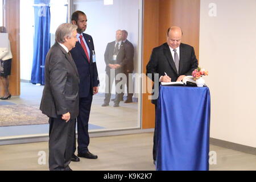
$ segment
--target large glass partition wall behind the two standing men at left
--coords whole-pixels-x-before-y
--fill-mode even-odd
[[[15,52],[13,52],[19,56],[19,60],[13,60],[13,63],[19,61],[21,82],[20,96],[12,96],[10,100],[0,101],[0,140],[21,135],[48,134],[48,117],[39,110],[44,83],[32,79],[35,57],[40,57],[37,55],[47,52],[40,51],[40,48],[53,45],[56,28],[61,23],[71,22],[71,14],[76,10],[84,11],[87,16],[88,22],[84,33],[93,38],[100,80],[99,92],[93,96],[89,131],[141,128],[142,1],[17,0],[13,1],[12,6],[17,5],[18,16],[7,17],[7,19],[3,15],[5,5],[2,5],[2,2],[7,1],[0,0],[2,22],[10,22],[12,18],[19,21],[16,24],[17,27],[9,27],[8,31],[13,33],[17,30],[17,34],[11,35],[10,41],[16,37],[19,38],[16,45],[19,51],[14,49]],[[124,35],[127,36],[126,41],[123,39]],[[120,61],[123,63],[127,56],[130,57],[129,63],[133,66],[123,66],[118,74],[114,73],[112,82],[108,82],[104,55],[108,52],[106,51],[107,45],[115,42],[117,36],[119,40],[123,40],[119,41],[118,53],[116,52],[115,55],[117,57],[121,55]],[[130,42],[129,52],[120,49],[125,42]],[[113,56],[114,51],[110,53],[110,57],[112,63],[115,64]],[[41,75],[44,70],[44,60],[44,56],[38,59],[39,63],[36,65],[36,73],[40,73],[38,75]],[[125,69],[127,73],[124,72]],[[110,87],[112,89],[106,92]],[[104,106],[106,94],[109,97],[108,106]],[[115,105],[117,101],[118,105]]]

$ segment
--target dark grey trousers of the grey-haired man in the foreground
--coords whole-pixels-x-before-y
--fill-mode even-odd
[[[49,169],[64,171],[71,162],[75,119],[49,118]]]

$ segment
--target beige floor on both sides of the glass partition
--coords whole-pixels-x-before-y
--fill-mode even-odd
[[[14,104],[40,105],[43,86],[22,83],[20,97],[12,97]],[[101,107],[102,96],[95,96],[90,123],[106,128],[138,126],[137,104],[121,107]],[[104,119],[102,119],[104,118]],[[81,159],[71,163],[74,170],[155,170],[152,163],[152,133],[97,137],[90,139],[90,151],[97,160]],[[46,153],[46,164],[38,164],[38,153]],[[256,170],[256,156],[210,145],[217,154],[217,163],[210,170]],[[48,170],[48,142],[0,146],[0,170]]]

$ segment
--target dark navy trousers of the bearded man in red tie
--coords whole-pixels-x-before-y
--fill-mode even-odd
[[[90,143],[89,131],[88,131],[88,122],[90,116],[90,107],[92,106],[92,94],[88,94],[87,97],[79,98],[79,115],[77,117],[77,143],[79,154],[85,153],[88,150]],[[74,126],[76,127],[76,125]],[[76,132],[76,130],[75,130]],[[73,139],[73,154],[76,151],[76,135]]]

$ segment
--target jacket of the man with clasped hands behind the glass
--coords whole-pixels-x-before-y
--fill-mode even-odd
[[[108,43],[105,53],[104,53],[104,58],[105,58],[105,63],[106,63],[106,69],[105,69],[106,72],[110,72],[110,67],[108,66],[108,64],[120,64],[121,68],[118,68],[116,70],[121,71],[121,69],[122,69],[123,59],[125,57],[123,43],[121,43],[121,45],[120,45],[116,61],[113,61],[114,49],[115,49],[115,41]]]

